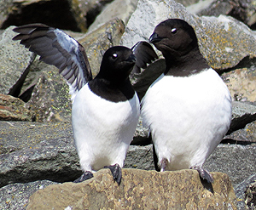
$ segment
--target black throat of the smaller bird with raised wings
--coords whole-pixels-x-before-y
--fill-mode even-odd
[[[115,103],[132,99],[135,94],[129,78],[126,78],[125,81],[115,83],[109,82],[101,77],[96,77],[89,82],[89,88],[94,94],[102,97],[102,99],[107,99]]]

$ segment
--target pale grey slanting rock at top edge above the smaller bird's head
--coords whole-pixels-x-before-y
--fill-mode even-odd
[[[137,2],[138,0],[114,0],[102,9],[101,14],[96,17],[96,20],[90,25],[88,31],[94,31],[97,27],[115,18],[119,18],[126,25],[131,14],[137,7]]]

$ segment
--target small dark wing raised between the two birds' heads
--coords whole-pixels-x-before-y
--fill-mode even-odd
[[[154,48],[147,42],[136,43],[131,50],[136,57],[136,64],[134,65],[131,74],[140,73],[141,68],[145,69],[147,64],[151,64],[153,60],[158,59],[157,54],[154,52]]]

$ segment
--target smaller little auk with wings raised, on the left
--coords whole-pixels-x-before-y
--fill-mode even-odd
[[[140,115],[129,75],[157,58],[154,49],[146,42],[132,49],[108,48],[92,79],[84,47],[65,32],[44,24],[19,26],[14,31],[20,34],[13,40],[21,40],[40,60],[55,65],[69,85],[74,142],[84,172],[74,182],[90,179],[97,170],[108,167],[120,184],[121,167]]]

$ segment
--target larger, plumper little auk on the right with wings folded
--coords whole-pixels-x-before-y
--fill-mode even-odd
[[[149,42],[166,60],[166,70],[142,100],[155,166],[162,172],[196,169],[202,179],[212,183],[211,173],[202,166],[230,127],[230,92],[207,65],[195,31],[186,21],[161,22]]]

